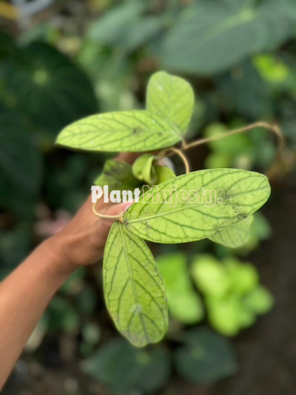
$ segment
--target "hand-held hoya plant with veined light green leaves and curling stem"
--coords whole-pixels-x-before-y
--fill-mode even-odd
[[[106,306],[117,329],[138,347],[160,341],[168,327],[164,281],[144,240],[185,243],[209,238],[237,247],[247,241],[252,214],[270,194],[268,179],[256,172],[190,172],[186,151],[208,142],[185,141],[193,108],[190,84],[160,71],[150,78],[145,109],[88,116],[65,127],[57,138],[59,145],[74,149],[142,153],[133,165],[108,160],[95,180],[116,194],[143,186],[127,211],[115,216],[103,259]],[[257,122],[218,138],[258,126],[279,135],[276,126]],[[176,176],[160,166],[173,155],[183,160],[186,174]],[[95,203],[93,211],[103,216]]]

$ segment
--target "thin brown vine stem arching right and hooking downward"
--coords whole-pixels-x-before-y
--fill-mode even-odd
[[[238,133],[244,133],[246,131],[255,129],[256,127],[263,127],[264,129],[272,131],[277,136],[278,142],[279,142],[277,157],[280,158],[282,150],[283,150],[284,145],[285,145],[285,141],[284,141],[284,137],[283,137],[282,131],[280,130],[278,125],[270,124],[270,123],[264,122],[264,121],[254,122],[254,123],[251,123],[248,126],[239,127],[238,129],[234,129],[234,130],[228,131],[228,132],[224,133],[223,135],[216,136],[216,137],[209,137],[209,138],[205,138],[205,139],[200,139],[200,140],[194,141],[194,142],[189,143],[189,144],[187,144],[183,140],[181,149],[182,149],[182,151],[187,151],[187,150],[190,150],[193,147],[197,147],[197,146],[200,146],[202,144],[206,144],[206,143],[209,143],[209,142],[212,142],[212,141],[215,141],[215,140],[224,139],[224,138],[226,138],[228,136],[233,136],[233,135],[236,135]]]

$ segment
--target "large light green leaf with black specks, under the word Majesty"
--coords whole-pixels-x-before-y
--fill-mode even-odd
[[[268,180],[262,174],[201,170],[146,191],[124,213],[124,223],[130,232],[159,243],[200,240],[258,210],[269,193]]]

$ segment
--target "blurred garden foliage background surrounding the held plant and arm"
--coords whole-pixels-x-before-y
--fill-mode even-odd
[[[4,393],[294,393],[294,0],[1,0],[0,23],[0,279],[69,221],[108,157],[55,147],[60,129],[141,108],[156,70],[195,89],[188,140],[266,120],[287,143],[246,245],[153,246],[171,314],[160,345],[120,338],[100,265],[83,268],[50,303]],[[274,137],[255,129],[190,159],[194,170],[265,172],[275,153]]]

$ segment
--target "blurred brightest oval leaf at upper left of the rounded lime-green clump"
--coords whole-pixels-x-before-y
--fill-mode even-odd
[[[192,262],[192,277],[205,295],[222,297],[231,288],[231,280],[225,267],[210,254],[200,254]]]

